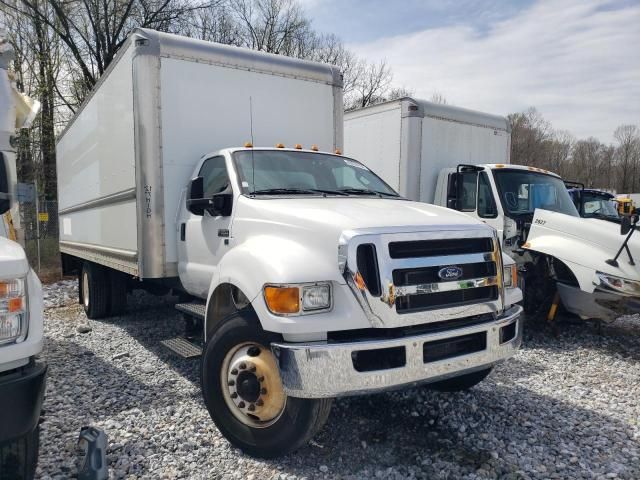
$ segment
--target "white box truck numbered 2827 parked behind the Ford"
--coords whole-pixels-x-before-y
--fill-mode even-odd
[[[407,198],[495,228],[520,266],[525,311],[546,313],[556,290],[583,318],[640,311],[634,227],[581,219],[558,175],[510,165],[506,118],[405,97],[347,112],[344,138],[347,155]]]

